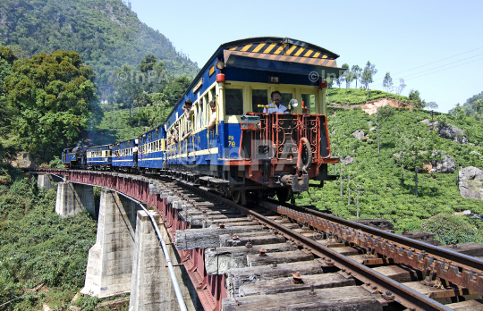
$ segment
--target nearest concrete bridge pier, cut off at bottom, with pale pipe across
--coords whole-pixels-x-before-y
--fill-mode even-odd
[[[168,234],[163,226],[160,214],[153,211],[153,217],[165,242],[169,242]],[[179,260],[174,256],[174,248],[168,245],[171,260],[174,264]],[[129,310],[179,310],[173,283],[166,266],[163,249],[159,245],[148,214],[138,211],[136,224],[136,247],[132,261],[131,298]],[[182,296],[188,310],[201,310],[201,304],[188,273],[184,267],[175,266],[174,271],[182,290]]]

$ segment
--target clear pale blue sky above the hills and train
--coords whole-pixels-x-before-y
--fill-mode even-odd
[[[369,88],[384,89],[389,71],[394,84],[405,80],[402,95],[418,89],[441,112],[483,91],[481,1],[131,0],[131,6],[199,67],[225,42],[289,37],[341,55],[338,66],[375,63]]]

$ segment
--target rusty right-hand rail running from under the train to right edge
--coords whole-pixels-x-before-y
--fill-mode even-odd
[[[483,294],[483,261],[476,257],[436,248],[422,241],[411,240],[305,207],[281,205],[275,200],[258,204],[275,213],[285,214],[299,223],[307,223],[320,231],[334,233],[343,240],[393,258],[396,262],[410,265],[427,273],[431,278],[436,276]]]

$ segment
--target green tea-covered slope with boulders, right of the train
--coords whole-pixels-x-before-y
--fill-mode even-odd
[[[311,188],[309,193],[297,197],[299,205],[315,205],[319,209],[332,211],[345,218],[354,219],[357,215],[357,186],[360,185],[360,218],[384,218],[392,223],[396,231],[428,230],[428,219],[436,214],[453,214],[469,209],[483,214],[481,200],[462,198],[457,186],[458,171],[461,167],[476,166],[483,169],[482,123],[470,117],[453,117],[451,114],[436,113],[435,121],[445,122],[464,130],[469,144],[460,144],[436,135],[429,126],[420,122],[431,120],[428,111],[394,109],[393,116],[380,126],[380,154],[377,153],[377,114],[369,115],[360,109],[344,110],[329,108],[328,127],[330,130],[333,155],[342,158],[352,155],[353,164],[343,165],[343,197],[340,196],[340,181],[327,181],[323,189]],[[369,137],[356,139],[352,132],[363,130]],[[431,150],[436,148],[451,155],[456,164],[453,173],[419,173],[418,190],[415,195],[414,166],[404,169],[397,164],[394,154],[402,150],[403,140],[424,141]],[[475,146],[471,146],[474,144]],[[422,145],[421,145],[422,146]],[[420,155],[424,157],[425,155]],[[340,174],[341,164],[337,164]],[[335,165],[329,165],[330,174],[335,174]],[[349,188],[348,177],[351,177]],[[350,201],[350,205],[348,205]],[[471,224],[481,228],[481,221]],[[477,238],[483,241],[483,231]]]

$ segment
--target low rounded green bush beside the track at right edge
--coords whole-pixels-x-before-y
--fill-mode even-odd
[[[483,242],[483,231],[471,225],[466,218],[454,214],[436,214],[423,223],[422,228],[436,233],[435,240],[444,245]]]

